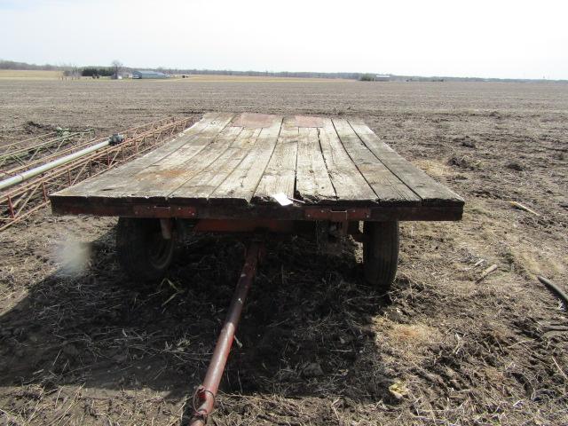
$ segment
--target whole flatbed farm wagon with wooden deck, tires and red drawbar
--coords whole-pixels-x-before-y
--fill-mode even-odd
[[[282,205],[278,193],[295,201]],[[137,280],[160,279],[188,233],[306,234],[322,245],[351,235],[381,292],[397,270],[398,221],[460,220],[464,204],[358,119],[248,113],[205,114],[170,143],[50,198],[55,214],[119,217],[119,260]],[[248,249],[195,422],[212,409],[261,248]]]

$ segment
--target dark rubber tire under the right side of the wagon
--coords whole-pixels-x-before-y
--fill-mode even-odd
[[[365,280],[381,293],[387,293],[397,275],[398,222],[365,222],[363,269]]]

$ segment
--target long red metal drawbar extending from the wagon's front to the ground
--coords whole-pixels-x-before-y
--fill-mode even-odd
[[[241,277],[237,282],[237,287],[234,290],[233,300],[229,306],[225,324],[221,330],[221,334],[217,339],[217,345],[213,356],[209,362],[207,374],[203,380],[203,384],[195,392],[193,398],[193,417],[189,423],[191,426],[203,426],[207,422],[207,417],[213,411],[215,406],[215,397],[219,388],[219,383],[225,370],[227,358],[233,345],[234,334],[241,319],[242,307],[247,299],[248,289],[255,276],[256,265],[258,264],[258,257],[261,253],[261,243],[252,242],[247,250],[247,258],[242,267]],[[195,407],[195,399],[198,399],[200,406]]]

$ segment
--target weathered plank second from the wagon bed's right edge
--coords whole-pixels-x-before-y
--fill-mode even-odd
[[[379,162],[374,154],[369,152],[367,146],[361,142],[355,130],[347,120],[333,119],[337,136],[355,163],[361,175],[365,177],[368,185],[375,191],[378,202],[383,203],[420,203],[418,197],[406,184],[387,169],[382,162]]]

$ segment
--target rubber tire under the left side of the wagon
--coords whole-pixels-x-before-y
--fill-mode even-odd
[[[174,258],[175,233],[162,237],[159,219],[119,217],[116,252],[122,270],[138,281],[162,280]]]

